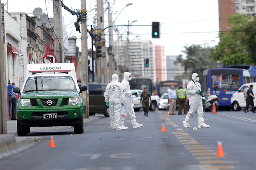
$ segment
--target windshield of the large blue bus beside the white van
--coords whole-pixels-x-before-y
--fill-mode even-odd
[[[237,90],[240,87],[240,72],[231,70],[213,70],[212,88]]]

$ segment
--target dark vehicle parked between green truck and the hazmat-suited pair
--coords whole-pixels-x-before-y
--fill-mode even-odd
[[[109,108],[104,102],[104,92],[107,85],[105,83],[88,83],[90,116],[95,113],[103,113],[104,116],[109,117]]]

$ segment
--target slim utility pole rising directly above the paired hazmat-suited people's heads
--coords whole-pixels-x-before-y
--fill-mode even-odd
[[[109,74],[111,76],[115,73],[115,61],[113,56],[113,27],[112,27],[112,13],[110,12],[110,4],[108,2],[108,30],[109,30],[109,47],[108,47],[108,56],[109,56]]]

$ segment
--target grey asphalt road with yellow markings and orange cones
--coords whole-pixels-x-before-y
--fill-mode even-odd
[[[190,128],[182,125],[185,115],[167,111],[136,112],[143,127],[111,131],[109,117],[84,126],[83,134],[73,129],[33,132],[29,136],[53,136],[50,141],[0,160],[0,169],[63,170],[252,170],[256,167],[256,114],[243,111],[204,113],[210,128],[197,128],[196,117]],[[163,125],[166,132],[162,132]],[[224,157],[216,156],[222,142]]]

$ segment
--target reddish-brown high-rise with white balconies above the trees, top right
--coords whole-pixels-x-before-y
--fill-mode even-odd
[[[228,23],[228,17],[234,14],[243,16],[254,15],[254,0],[219,0],[219,25],[220,31],[227,31],[232,25]]]

